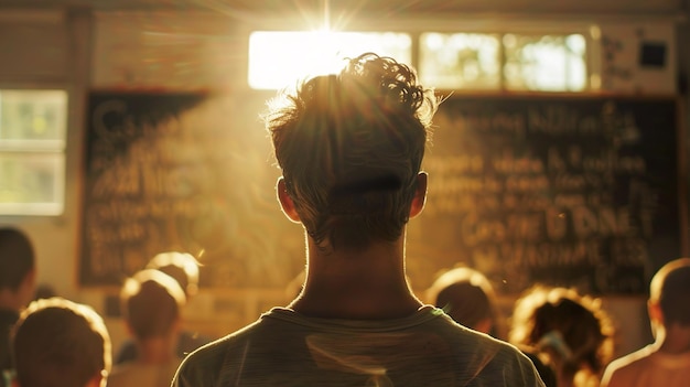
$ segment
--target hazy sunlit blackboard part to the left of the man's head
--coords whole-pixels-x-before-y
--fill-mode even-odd
[[[303,265],[280,213],[266,96],[94,92],[79,283],[120,286],[155,254],[190,252],[202,287],[280,287]]]

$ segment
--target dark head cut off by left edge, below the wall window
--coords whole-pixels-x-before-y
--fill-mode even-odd
[[[34,269],[31,240],[15,228],[0,228],[0,289],[17,290]]]

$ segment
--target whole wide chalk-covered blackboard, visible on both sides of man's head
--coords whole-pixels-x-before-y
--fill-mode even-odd
[[[289,283],[304,238],[272,190],[258,119],[272,95],[91,93],[79,283],[119,286],[165,250],[201,255],[203,287]],[[684,252],[676,98],[455,94],[434,125],[407,234],[413,289],[464,264],[508,293],[640,294]]]

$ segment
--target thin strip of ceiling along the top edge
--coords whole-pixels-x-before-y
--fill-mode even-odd
[[[688,0],[0,0],[2,8],[88,8],[93,10],[208,10],[304,13],[326,10],[376,18],[463,13],[687,14]],[[1,12],[1,10],[0,10]]]

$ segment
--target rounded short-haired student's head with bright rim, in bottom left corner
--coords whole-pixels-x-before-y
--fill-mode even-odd
[[[33,301],[13,330],[20,387],[98,387],[110,369],[110,337],[91,308],[62,298]]]

